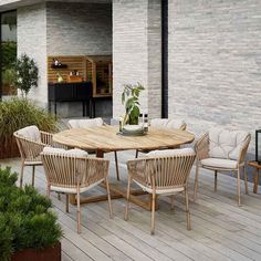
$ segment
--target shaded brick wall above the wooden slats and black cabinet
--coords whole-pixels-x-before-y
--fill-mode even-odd
[[[48,2],[49,55],[111,55],[112,4]]]

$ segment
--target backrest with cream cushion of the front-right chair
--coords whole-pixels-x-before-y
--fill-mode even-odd
[[[134,180],[155,189],[179,188],[186,185],[196,157],[192,149],[166,149],[147,155],[127,163]]]

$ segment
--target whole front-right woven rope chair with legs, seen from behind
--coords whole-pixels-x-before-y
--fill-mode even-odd
[[[152,197],[152,227],[150,233],[155,231],[155,201],[156,195],[173,196],[185,192],[187,229],[190,230],[190,213],[188,208],[188,177],[195,160],[194,152],[166,157],[146,157],[127,161],[128,187],[125,220],[128,219],[128,206],[130,196],[130,184],[135,181]],[[173,199],[173,197],[171,197]],[[171,201],[173,205],[173,201]]]

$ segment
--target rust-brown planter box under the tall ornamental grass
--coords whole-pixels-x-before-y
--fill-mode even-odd
[[[19,157],[17,140],[13,136],[0,137],[0,159]]]

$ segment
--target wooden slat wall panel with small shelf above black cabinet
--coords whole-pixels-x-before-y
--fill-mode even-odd
[[[51,64],[54,60],[59,60],[62,64],[66,64],[66,69],[52,69]],[[86,81],[86,62],[85,56],[49,56],[48,58],[48,82],[55,83],[58,82],[58,73],[62,75],[64,81],[67,80],[67,76],[71,71],[77,70],[80,76]]]

